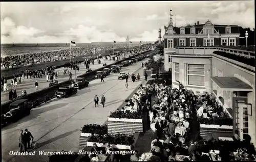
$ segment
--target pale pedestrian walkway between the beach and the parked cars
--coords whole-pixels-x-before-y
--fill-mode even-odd
[[[91,64],[90,65],[90,68],[92,70],[95,70],[95,69],[98,69],[100,67],[102,67],[102,65],[104,63],[106,63],[107,65],[109,64],[112,64],[113,61],[109,61],[109,60],[103,60],[103,59],[100,59],[101,60],[101,64],[98,64],[97,63],[97,60],[94,61],[94,65]],[[83,73],[86,73],[87,69],[86,69],[86,66],[83,65],[83,63],[81,63],[80,65],[80,69],[79,71],[76,71],[76,76],[80,75],[80,74],[83,74]],[[63,82],[65,80],[68,80],[69,79],[69,75],[63,75],[63,71],[64,71],[64,68],[58,68],[56,69],[59,71],[59,77],[57,78],[58,82]],[[72,73],[72,78],[75,78],[75,70],[71,70],[71,68],[69,68],[69,70],[71,71]],[[17,96],[20,95],[22,93],[22,91],[26,90],[26,92],[29,94],[29,93],[33,93],[35,92],[35,81],[37,80],[38,82],[38,90],[41,90],[41,89],[44,89],[44,88],[47,88],[49,87],[49,82],[46,82],[46,76],[42,76],[42,78],[31,78],[30,79],[30,76],[29,78],[27,79],[27,77],[25,77],[25,80],[24,82],[22,82],[20,85],[18,85],[16,88],[12,88],[12,89],[16,89],[16,92],[17,92]],[[8,84],[11,83],[11,79],[9,79],[7,81]],[[11,88],[8,87],[8,89],[10,90]],[[1,104],[2,103],[5,103],[9,101],[9,91],[7,92],[1,92]]]

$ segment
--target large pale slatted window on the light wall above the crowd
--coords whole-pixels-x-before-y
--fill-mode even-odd
[[[187,64],[187,83],[193,86],[204,86],[204,65]]]

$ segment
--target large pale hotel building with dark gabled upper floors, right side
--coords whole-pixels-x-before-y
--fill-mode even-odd
[[[239,26],[209,20],[176,28],[171,15],[163,36],[164,67],[172,71],[173,87],[180,82],[195,93],[214,94],[233,118],[233,131],[239,130],[241,139],[249,134],[256,146],[255,66],[248,64],[255,52],[238,49],[239,36]],[[248,62],[234,59],[238,56]]]

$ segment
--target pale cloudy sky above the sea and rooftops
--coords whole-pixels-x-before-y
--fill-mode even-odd
[[[173,10],[176,26],[254,28],[254,1],[1,2],[1,43],[156,41]]]

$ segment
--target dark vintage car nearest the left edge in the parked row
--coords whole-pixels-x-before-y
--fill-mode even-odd
[[[29,107],[27,99],[18,99],[10,105],[10,111],[6,113],[6,122],[16,122],[20,118],[30,114],[31,107]]]

